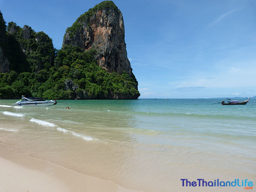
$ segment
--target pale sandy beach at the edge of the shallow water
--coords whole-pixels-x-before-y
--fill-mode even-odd
[[[0,140],[0,191],[135,192],[111,181],[79,174],[64,167],[16,153]]]

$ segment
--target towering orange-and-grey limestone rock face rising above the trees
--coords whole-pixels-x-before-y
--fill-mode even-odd
[[[127,58],[123,16],[112,1],[89,9],[67,28],[62,47],[69,44],[83,50],[95,48],[99,66],[109,72],[126,71],[134,76]]]

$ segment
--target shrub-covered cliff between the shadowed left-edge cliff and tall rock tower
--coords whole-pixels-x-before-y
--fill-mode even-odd
[[[36,33],[27,25],[22,29],[14,22],[8,23],[7,32],[9,39],[12,41],[10,45],[14,45],[9,57],[12,58],[11,64],[14,65],[11,66],[11,70],[37,72],[43,69],[44,63],[53,63],[55,49],[53,48],[52,39],[44,32]],[[16,53],[13,54],[13,51]],[[23,54],[19,54],[21,52]],[[20,61],[21,55],[26,58],[23,59],[24,61]],[[25,69],[19,69],[24,65],[27,66]]]

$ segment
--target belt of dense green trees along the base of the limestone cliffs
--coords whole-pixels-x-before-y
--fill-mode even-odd
[[[58,50],[55,66],[45,63],[44,69],[33,72],[0,73],[0,98],[25,96],[45,99],[127,99],[137,98],[137,82],[126,72],[121,75],[108,73],[94,60],[96,50],[82,52],[79,47],[65,46]],[[65,89],[65,82],[72,81],[75,89]]]

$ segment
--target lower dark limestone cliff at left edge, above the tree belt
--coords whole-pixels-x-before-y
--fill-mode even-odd
[[[31,27],[23,28],[14,22],[6,27],[0,11],[0,73],[38,72],[44,64],[53,64],[55,49],[52,39],[44,32],[35,32]]]

